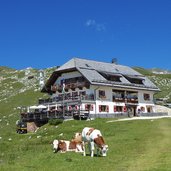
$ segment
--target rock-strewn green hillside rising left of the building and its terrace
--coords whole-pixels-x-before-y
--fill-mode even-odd
[[[43,70],[45,80],[55,69]],[[15,121],[20,113],[17,107],[34,105],[39,98],[46,98],[47,95],[40,92],[39,80],[40,70],[0,67],[0,129],[15,129]]]

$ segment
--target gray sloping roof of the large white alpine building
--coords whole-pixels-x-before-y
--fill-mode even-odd
[[[114,63],[98,62],[93,60],[72,58],[67,63],[59,67],[56,71],[62,72],[68,69],[78,70],[91,84],[137,87],[148,90],[159,90],[147,77],[133,70],[128,66]],[[100,72],[115,74],[120,77],[121,82],[108,81]],[[143,84],[131,83],[127,78],[143,80]]]

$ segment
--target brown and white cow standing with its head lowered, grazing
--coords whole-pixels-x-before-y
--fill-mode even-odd
[[[82,130],[82,133],[75,133],[74,140],[80,142],[82,140],[83,143],[83,155],[86,156],[85,153],[85,143],[88,143],[90,155],[94,156],[94,149],[97,149],[97,156],[99,156],[99,152],[101,156],[107,155],[108,145],[105,144],[103,136],[98,129],[85,127]]]

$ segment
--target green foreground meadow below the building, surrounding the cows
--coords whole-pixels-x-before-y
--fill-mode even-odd
[[[36,133],[24,135],[4,125],[0,139],[0,170],[171,170],[171,119],[108,122],[110,120],[98,118],[70,120],[58,126],[46,124]],[[51,142],[54,139],[70,140],[74,132],[85,126],[101,130],[109,145],[107,157],[91,158],[88,151],[86,157],[74,152],[53,153]]]

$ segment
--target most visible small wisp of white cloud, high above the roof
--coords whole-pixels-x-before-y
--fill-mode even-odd
[[[95,29],[96,31],[105,31],[106,27],[104,24],[97,23],[95,20],[89,19],[86,21],[86,26]]]

